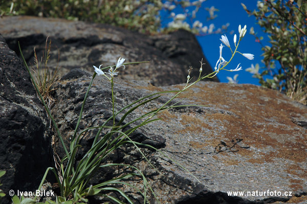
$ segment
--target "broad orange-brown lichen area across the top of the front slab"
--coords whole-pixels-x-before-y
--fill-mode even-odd
[[[229,87],[231,86],[231,87]],[[182,85],[172,86],[172,89],[181,89]],[[233,112],[235,115],[215,112],[198,115],[191,112],[183,114],[179,122],[186,128],[180,133],[202,133],[204,128],[210,132],[204,134],[204,144],[200,146],[190,144],[194,148],[218,147],[221,141],[227,145],[236,139],[242,139],[243,146],[257,148],[262,152],[240,148],[235,153],[247,158],[249,163],[275,163],[278,160],[291,160],[297,163],[307,160],[307,129],[299,127],[293,122],[292,117],[302,115],[299,106],[289,105],[287,97],[275,90],[257,87],[254,85],[230,85],[230,84],[196,84],[196,89],[190,89],[182,93],[180,98],[187,98],[194,104],[214,104],[212,109],[223,109]],[[259,97],[260,96],[260,97]],[[232,98],[235,98],[233,101]],[[239,101],[239,102],[238,102]],[[202,118],[201,118],[202,117]],[[171,118],[171,116],[168,116]],[[211,124],[215,123],[215,130]],[[217,133],[218,132],[218,133]],[[290,141],[289,137],[292,137]],[[210,138],[210,139],[209,139]],[[209,140],[208,140],[209,139]],[[240,145],[240,144],[238,144]],[[274,150],[272,148],[274,147]],[[221,152],[224,153],[224,152]],[[299,169],[296,174],[306,174]]]

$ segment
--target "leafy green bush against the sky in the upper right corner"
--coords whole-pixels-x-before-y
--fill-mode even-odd
[[[249,11],[268,34],[270,46],[262,46],[266,67],[259,64],[248,71],[262,86],[278,89],[296,101],[307,99],[307,1],[258,1],[258,10]],[[261,44],[253,29],[250,31]],[[259,73],[260,71],[260,73]]]

